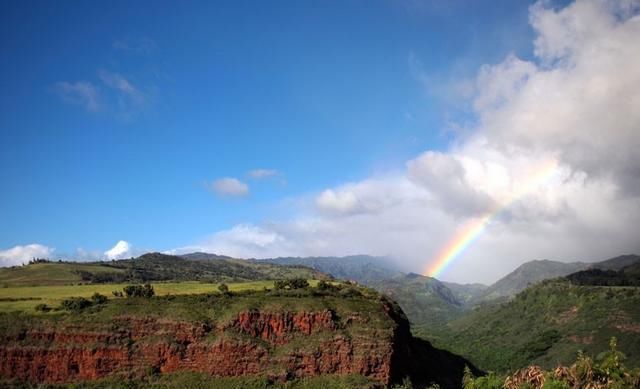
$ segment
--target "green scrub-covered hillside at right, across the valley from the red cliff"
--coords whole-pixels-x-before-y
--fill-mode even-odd
[[[545,281],[503,304],[486,304],[449,323],[439,344],[480,368],[505,372],[529,364],[569,364],[578,350],[596,355],[612,336],[640,366],[640,288]]]

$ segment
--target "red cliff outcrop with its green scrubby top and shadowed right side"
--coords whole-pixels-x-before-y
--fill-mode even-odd
[[[381,385],[409,376],[444,389],[460,386],[465,365],[480,373],[413,338],[402,310],[383,296],[316,298],[194,295],[114,300],[74,314],[0,315],[0,386],[193,371],[274,382],[355,374]],[[145,312],[157,314],[142,315],[145,304],[155,304]]]

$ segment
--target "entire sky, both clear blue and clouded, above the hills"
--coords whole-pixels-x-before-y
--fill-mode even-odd
[[[492,282],[639,253],[638,15],[3,2],[0,266],[371,254]]]

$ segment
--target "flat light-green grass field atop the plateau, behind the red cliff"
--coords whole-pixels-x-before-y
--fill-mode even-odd
[[[311,286],[317,285],[317,280],[309,280]],[[113,291],[122,291],[129,284],[88,284],[88,285],[51,285],[51,286],[21,286],[0,288],[0,312],[34,311],[38,304],[56,307],[69,297],[91,297],[94,293],[114,298]],[[218,291],[219,284],[200,282],[167,282],[153,283],[158,296],[198,294]],[[240,292],[243,290],[262,290],[272,288],[273,281],[251,281],[228,283],[229,290]]]

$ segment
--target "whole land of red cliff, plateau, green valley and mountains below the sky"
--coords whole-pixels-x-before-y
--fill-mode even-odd
[[[597,357],[612,338],[637,367],[639,264],[637,256],[533,261],[485,286],[404,273],[368,256],[39,260],[0,269],[0,377],[457,388],[465,366],[477,376],[552,369],[579,351]],[[153,297],[122,293],[143,283]],[[47,370],[50,358],[68,370]],[[220,363],[205,362],[211,358]]]

